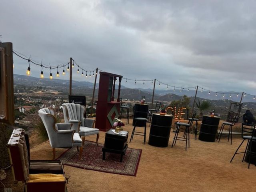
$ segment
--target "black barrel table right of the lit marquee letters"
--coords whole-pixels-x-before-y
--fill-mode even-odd
[[[220,117],[203,115],[202,124],[199,132],[199,140],[215,142]]]

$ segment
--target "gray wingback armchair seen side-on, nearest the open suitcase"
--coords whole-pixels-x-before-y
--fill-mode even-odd
[[[75,130],[71,129],[72,123],[56,123],[55,112],[51,108],[42,108],[38,111],[39,116],[46,128],[50,145],[52,147],[53,159],[55,159],[55,148],[66,148],[79,146],[79,159],[82,155],[82,140]]]

